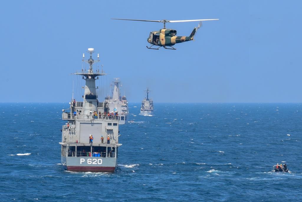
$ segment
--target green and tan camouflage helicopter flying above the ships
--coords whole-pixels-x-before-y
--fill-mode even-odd
[[[159,31],[151,31],[147,41],[151,44],[150,47],[146,46],[149,49],[159,50],[160,47],[164,47],[165,49],[176,50],[176,48],[172,47],[175,44],[194,40],[194,35],[196,31],[201,27],[202,21],[208,20],[219,20],[219,19],[202,19],[202,20],[133,20],[133,19],[117,19],[111,18],[113,20],[132,20],[132,21],[145,21],[145,22],[162,22],[164,23],[164,28]],[[191,22],[191,21],[200,21],[198,27],[195,27],[190,34],[190,36],[186,37],[178,37],[176,36],[176,30],[166,29],[167,22]],[[159,46],[158,48],[152,48],[153,46]],[[168,48],[170,47],[170,48]]]

